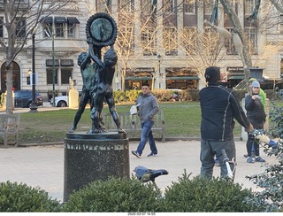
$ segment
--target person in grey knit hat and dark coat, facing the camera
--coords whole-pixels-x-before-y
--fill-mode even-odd
[[[249,122],[253,125],[255,129],[264,129],[264,122],[266,114],[264,112],[264,104],[259,96],[260,84],[258,81],[253,81],[250,86],[249,95],[245,97],[245,109],[247,110],[247,117]],[[253,160],[251,151],[254,144],[254,150],[256,154],[255,160]],[[248,133],[247,141],[247,151],[248,151],[248,163],[265,162],[264,158],[259,156],[259,143],[253,138],[253,135]]]

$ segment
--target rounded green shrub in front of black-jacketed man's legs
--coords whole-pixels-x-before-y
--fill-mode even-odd
[[[189,180],[190,174],[179,177],[164,191],[164,212],[261,212],[246,200],[254,198],[251,189],[242,189],[238,183],[213,178],[205,180],[199,175]]]

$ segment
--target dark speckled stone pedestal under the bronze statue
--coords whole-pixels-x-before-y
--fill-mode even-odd
[[[64,202],[73,191],[110,176],[130,178],[126,134],[67,133],[65,138]]]

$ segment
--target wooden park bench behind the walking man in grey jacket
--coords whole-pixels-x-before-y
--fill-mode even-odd
[[[126,131],[129,139],[141,138],[141,121],[138,115],[131,115],[127,112],[119,113],[120,126]],[[153,136],[155,139],[160,139],[165,142],[165,122],[164,112],[159,110],[154,117],[155,124],[152,127]],[[103,122],[106,129],[110,132],[117,131],[117,126],[112,119],[111,113],[103,112]]]

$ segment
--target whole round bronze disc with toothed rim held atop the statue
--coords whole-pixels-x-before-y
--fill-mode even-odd
[[[117,25],[108,13],[96,13],[88,19],[88,42],[103,47],[113,45],[117,37]]]

